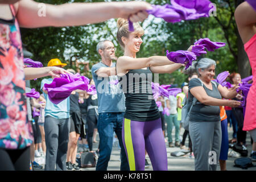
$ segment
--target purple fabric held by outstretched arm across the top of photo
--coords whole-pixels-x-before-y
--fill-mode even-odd
[[[209,17],[209,0],[171,0],[171,5],[152,5],[148,14],[157,18],[163,18],[166,22],[175,23],[181,20],[192,20],[201,17]],[[214,7],[213,7],[214,8]],[[129,31],[134,31],[133,23],[129,20]]]

